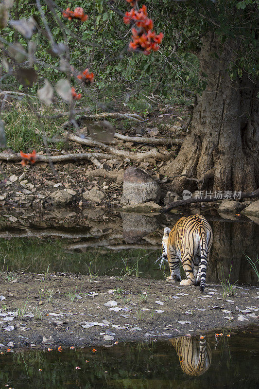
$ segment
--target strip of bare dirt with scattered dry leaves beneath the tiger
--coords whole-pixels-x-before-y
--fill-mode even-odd
[[[56,348],[204,335],[258,321],[259,288],[198,287],[126,276],[0,275],[0,348]],[[113,301],[113,302],[110,302]],[[108,303],[108,306],[104,305]]]

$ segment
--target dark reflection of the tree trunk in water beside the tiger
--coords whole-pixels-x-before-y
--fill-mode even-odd
[[[228,278],[231,263],[230,282],[256,285],[257,277],[242,251],[253,261],[259,252],[259,226],[255,223],[231,223],[213,221],[214,235],[212,252],[207,270],[207,281],[218,283]]]

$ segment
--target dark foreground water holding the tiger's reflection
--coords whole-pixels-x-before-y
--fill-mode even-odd
[[[226,334],[218,343],[210,334],[206,340],[181,336],[96,346],[95,353],[93,347],[5,353],[0,355],[0,388],[258,388],[258,329],[248,327],[230,337]],[[76,370],[77,366],[81,369]]]

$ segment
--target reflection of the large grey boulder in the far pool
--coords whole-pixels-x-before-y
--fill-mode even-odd
[[[155,216],[141,215],[140,213],[121,213],[123,226],[123,239],[127,243],[136,243],[143,236],[158,228],[158,220]]]

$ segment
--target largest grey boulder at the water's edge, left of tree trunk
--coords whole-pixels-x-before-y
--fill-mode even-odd
[[[128,167],[123,176],[121,205],[158,202],[161,189],[152,177],[136,167]]]

